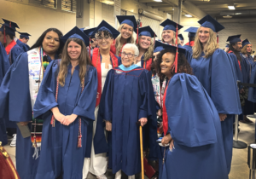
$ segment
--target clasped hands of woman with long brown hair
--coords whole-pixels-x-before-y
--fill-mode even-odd
[[[55,119],[57,121],[59,121],[61,124],[63,125],[69,125],[69,124],[72,124],[73,121],[78,118],[78,115],[76,114],[71,114],[71,115],[63,115],[60,111],[59,111],[59,108],[58,107],[54,107],[51,109]]]

